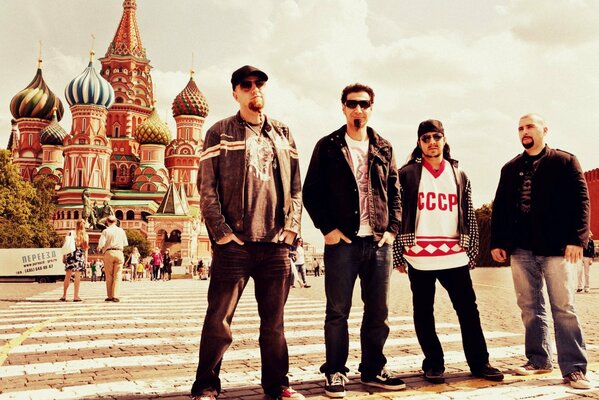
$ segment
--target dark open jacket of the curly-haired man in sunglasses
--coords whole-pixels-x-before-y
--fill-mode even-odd
[[[304,205],[314,226],[326,235],[339,229],[355,237],[360,229],[358,185],[345,141],[346,126],[316,143],[304,181]],[[391,143],[368,128],[370,182],[368,216],[374,239],[399,230],[399,181]]]

